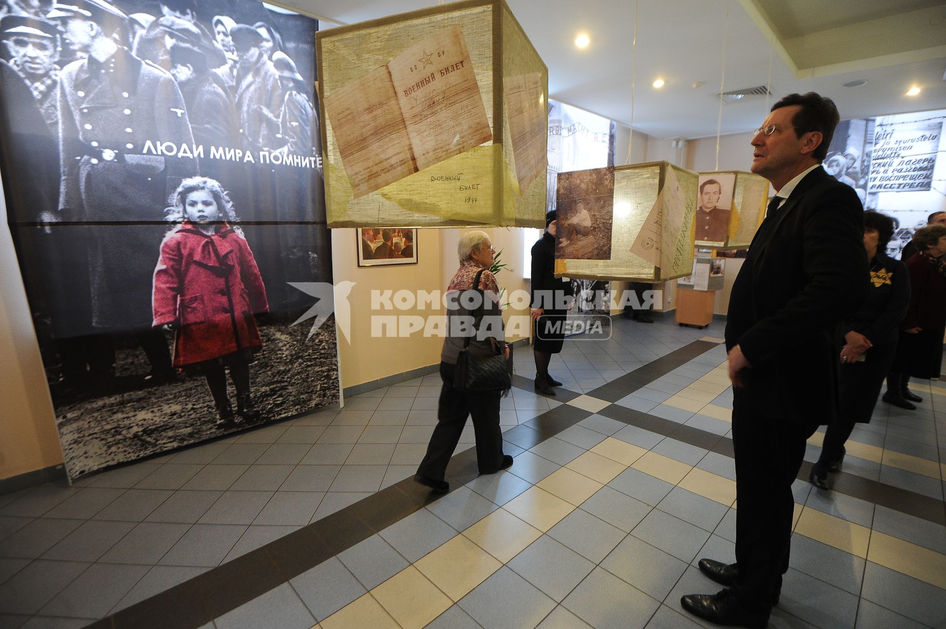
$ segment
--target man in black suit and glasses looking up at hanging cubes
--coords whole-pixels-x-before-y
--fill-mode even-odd
[[[838,123],[829,98],[785,96],[752,139],[752,172],[777,190],[733,284],[736,563],[701,559],[717,594],[680,603],[720,624],[764,627],[788,570],[792,482],[805,441],[837,406],[837,325],[867,294],[864,208],[820,163]]]

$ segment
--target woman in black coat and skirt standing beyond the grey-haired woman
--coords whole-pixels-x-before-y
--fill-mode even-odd
[[[569,312],[571,283],[555,277],[555,211],[545,215],[545,234],[532,248],[532,317],[535,320],[533,354],[535,391],[554,395],[561,382],[549,376],[552,354],[562,351]]]

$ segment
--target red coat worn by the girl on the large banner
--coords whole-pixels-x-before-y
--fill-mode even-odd
[[[155,327],[181,325],[176,367],[260,347],[254,313],[270,310],[246,240],[229,225],[206,236],[186,222],[161,244],[151,302]]]

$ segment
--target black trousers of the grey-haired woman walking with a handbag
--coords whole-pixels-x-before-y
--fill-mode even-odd
[[[427,454],[417,473],[429,479],[444,480],[447,463],[460,442],[466,417],[473,418],[476,434],[476,460],[481,474],[492,474],[502,464],[502,431],[499,429],[499,392],[463,393],[453,388],[456,365],[440,363],[444,386],[437,404],[437,426],[430,435]]]

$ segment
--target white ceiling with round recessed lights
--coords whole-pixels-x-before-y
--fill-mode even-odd
[[[422,0],[283,0],[304,12],[340,24],[354,24],[429,7]],[[602,114],[625,125],[632,119],[634,0],[507,0],[519,23],[549,66],[552,98]],[[833,4],[841,5],[839,12]],[[745,8],[744,8],[745,5]],[[780,7],[779,11],[773,9]],[[856,12],[862,7],[863,13]],[[895,19],[902,11],[923,9],[925,54],[890,54],[891,38],[902,50],[915,38],[898,33],[879,19]],[[748,11],[746,10],[748,9]],[[633,91],[633,126],[657,137],[694,138],[715,135],[719,116],[720,81],[725,44],[724,91],[766,85],[774,97],[814,90],[830,96],[844,118],[946,109],[946,5],[924,0],[639,0],[637,81]],[[728,17],[727,17],[728,11]],[[932,11],[932,13],[930,13]],[[862,17],[843,26],[845,12]],[[753,13],[753,15],[750,15]],[[904,13],[905,15],[905,13]],[[929,17],[932,15],[933,17]],[[874,26],[883,28],[883,35]],[[906,24],[905,20],[903,24]],[[939,26],[941,25],[941,29]],[[841,27],[839,27],[841,26]],[[914,26],[911,26],[914,27]],[[585,31],[591,44],[575,48],[575,36]],[[841,42],[858,41],[868,61],[835,63],[831,46],[817,60],[797,62],[793,40],[812,37]],[[853,39],[852,39],[853,38]],[[775,42],[776,45],[770,44]],[[794,40],[797,52],[797,39]],[[870,44],[878,42],[870,55]],[[887,44],[885,47],[882,44]],[[933,47],[933,45],[939,47]],[[841,44],[839,44],[841,45]],[[850,49],[853,44],[848,44]],[[790,52],[786,52],[786,49]],[[932,51],[932,52],[931,52]],[[833,52],[838,52],[834,50]],[[885,55],[885,56],[884,56]],[[843,55],[842,55],[843,56]],[[793,58],[794,57],[794,58]],[[850,58],[850,55],[848,55]],[[925,57],[925,59],[924,59]],[[935,57],[930,59],[930,57]],[[908,61],[910,59],[920,61]],[[806,61],[811,61],[811,55]],[[799,66],[804,65],[803,69]],[[861,69],[853,69],[860,67]],[[800,79],[798,77],[801,77]],[[664,79],[662,89],[652,87]],[[852,79],[867,85],[845,88]],[[703,85],[692,87],[694,82]],[[920,96],[905,96],[913,85]],[[769,105],[774,102],[770,100]],[[757,127],[767,112],[765,98],[746,98],[723,107],[722,133]]]

